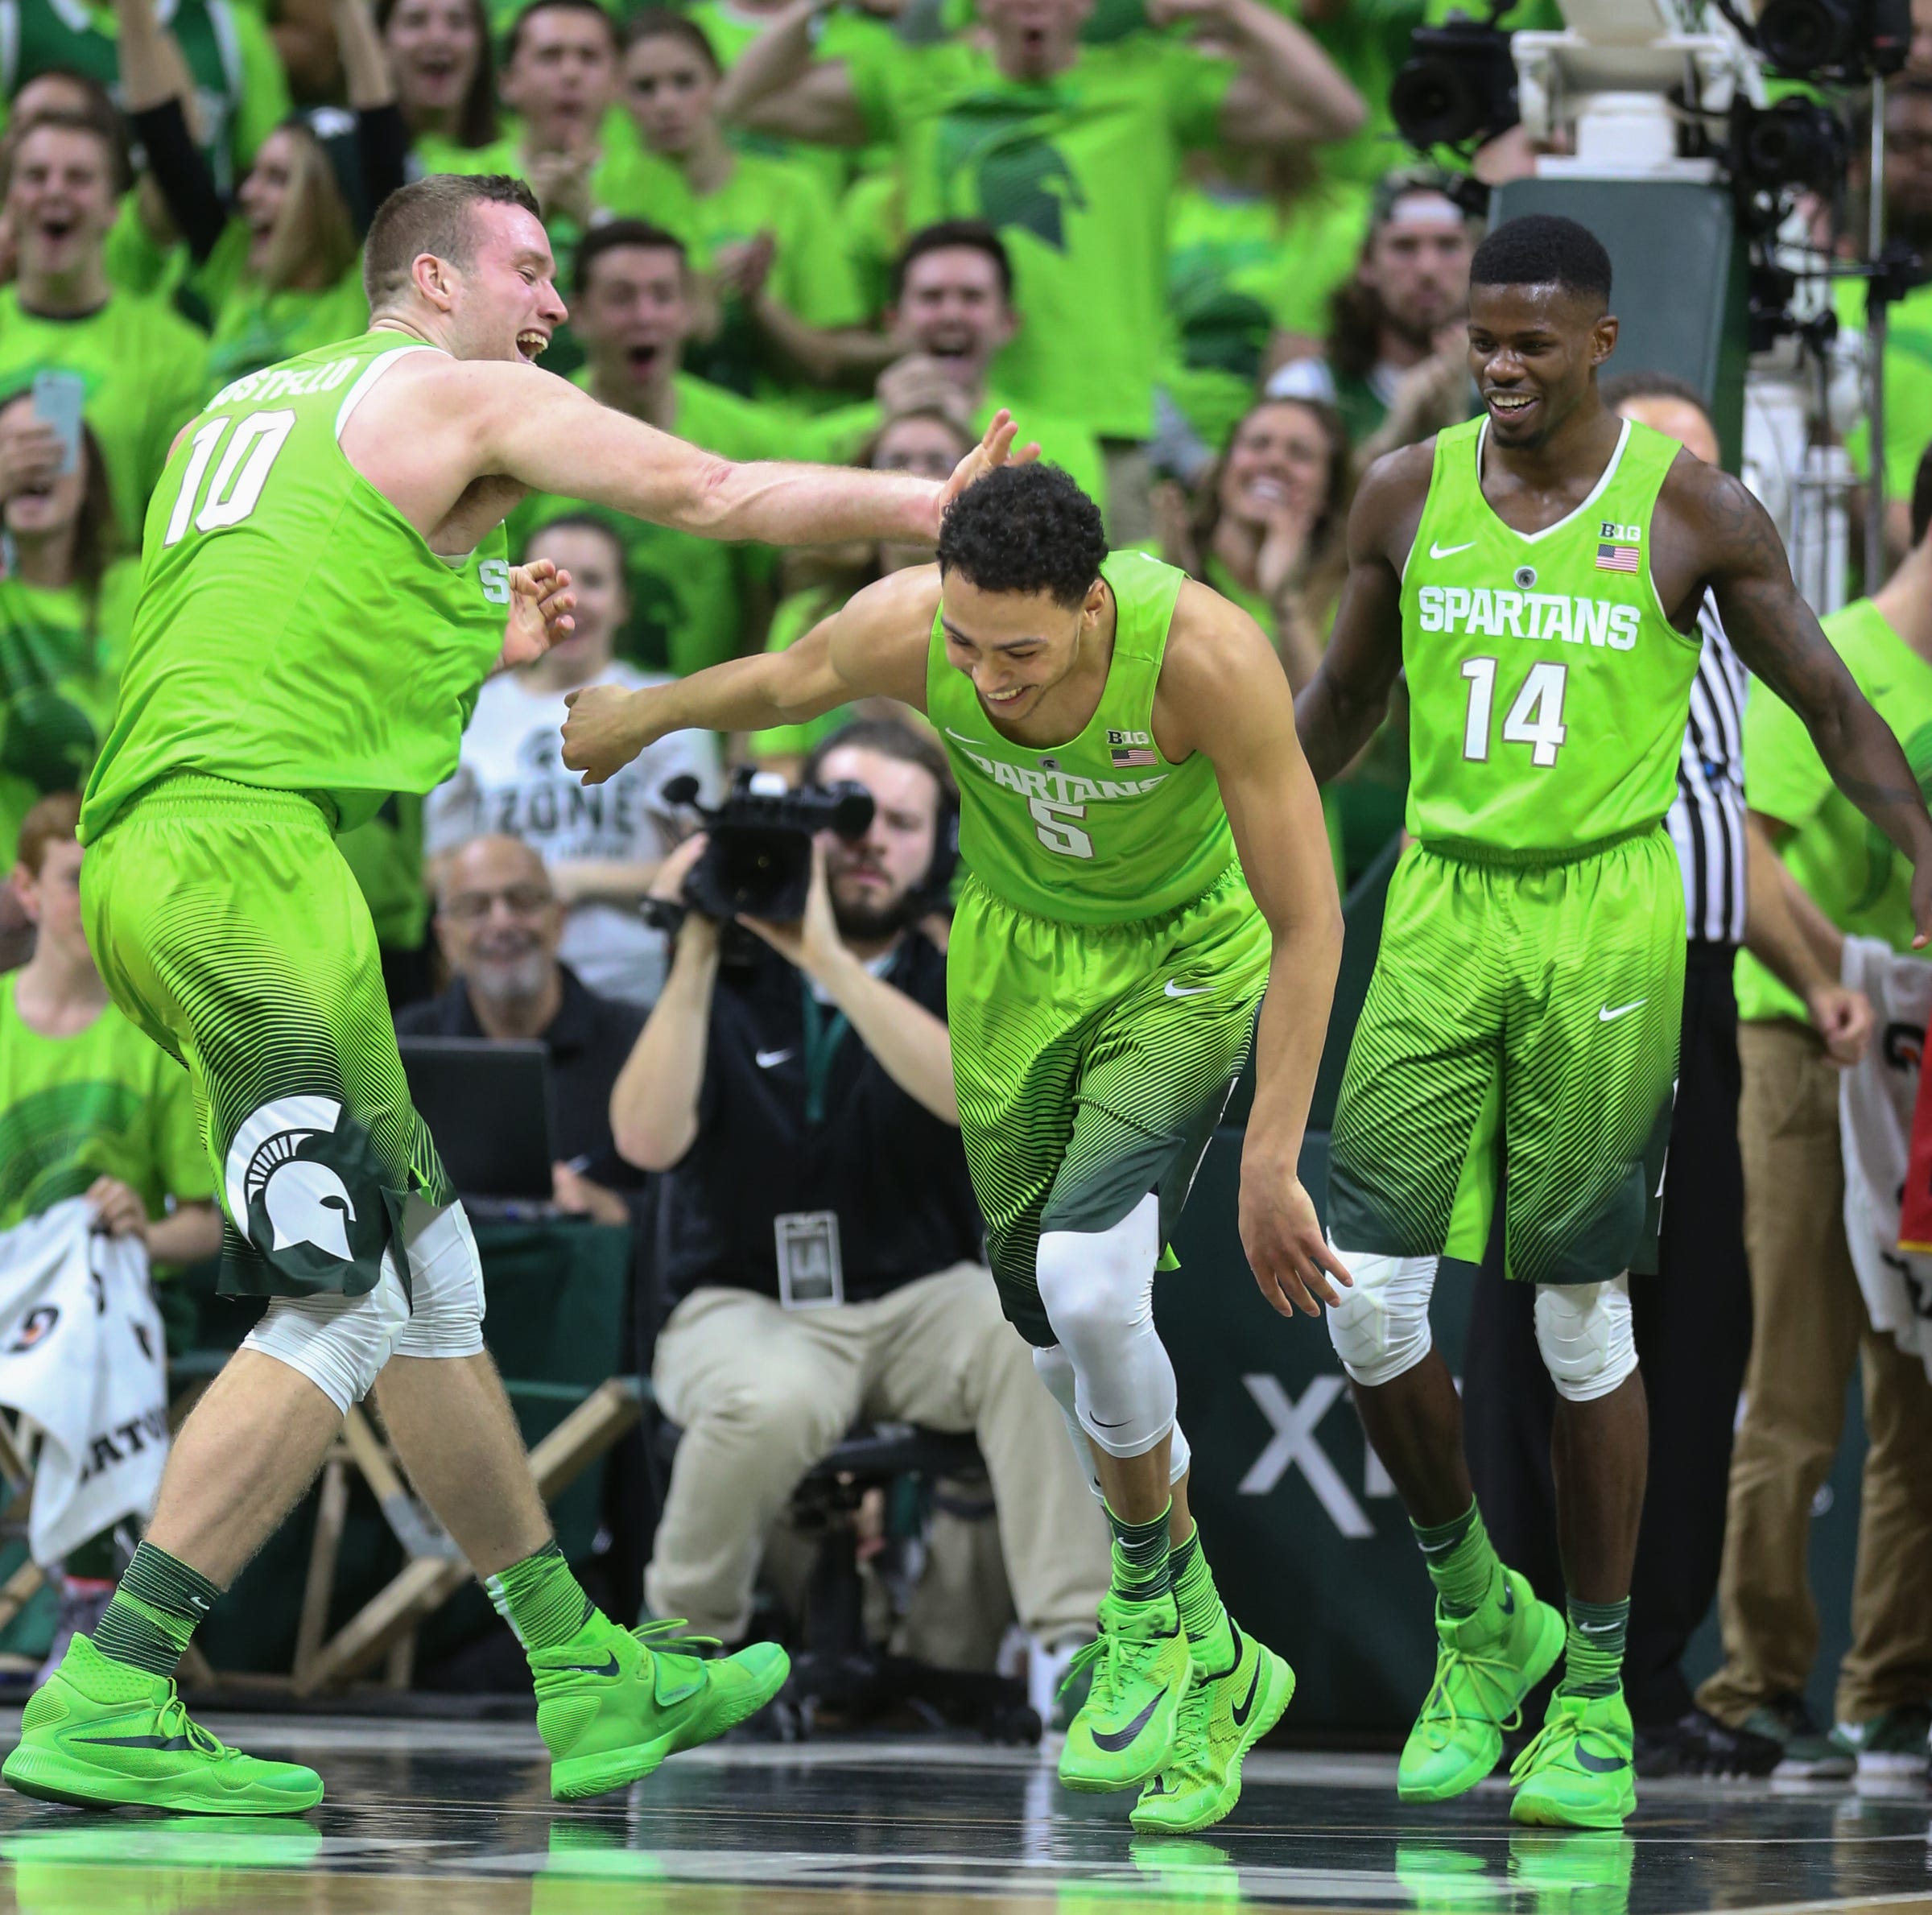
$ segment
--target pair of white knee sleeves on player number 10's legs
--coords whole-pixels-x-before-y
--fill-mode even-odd
[[[483,1349],[483,1266],[462,1204],[404,1208],[410,1293],[394,1244],[363,1297],[276,1297],[243,1349],[274,1357],[348,1413],[390,1357],[475,1357]]]

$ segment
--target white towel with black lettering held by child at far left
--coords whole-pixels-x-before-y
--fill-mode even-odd
[[[41,1434],[27,1525],[37,1563],[155,1507],[168,1357],[147,1250],[93,1233],[85,1198],[0,1233],[0,1405]]]

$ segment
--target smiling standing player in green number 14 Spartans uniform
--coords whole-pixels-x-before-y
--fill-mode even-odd
[[[1470,274],[1484,412],[1379,460],[1300,696],[1318,779],[1408,678],[1408,835],[1335,1113],[1329,1241],[1354,1287],[1329,1333],[1435,1583],[1435,1683],[1399,1789],[1493,1766],[1565,1658],[1511,1780],[1519,1822],[1615,1828],[1636,1801],[1621,1660],[1646,1411],[1627,1273],[1654,1270],[1683,997],[1683,883],[1662,829],[1700,636],[1810,727],[1839,786],[1913,860],[1932,823],[1891,732],[1791,584],[1745,487],[1598,400],[1609,255],[1575,220],[1509,220]],[[1536,1285],[1569,1619],[1482,1529],[1455,1384],[1432,1351],[1439,1258],[1478,1260],[1507,1144],[1507,1268]]]

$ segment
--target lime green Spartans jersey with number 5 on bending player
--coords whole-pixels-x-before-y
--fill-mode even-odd
[[[947,659],[933,618],[925,709],[960,786],[960,858],[989,891],[1036,918],[1130,924],[1198,899],[1235,860],[1213,765],[1179,765],[1153,742],[1153,688],[1184,574],[1144,553],[1099,568],[1115,599],[1099,707],[1068,744],[1014,744],[993,730],[972,680]]]

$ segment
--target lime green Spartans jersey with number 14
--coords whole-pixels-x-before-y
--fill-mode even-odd
[[[1700,640],[1650,578],[1677,441],[1627,423],[1569,518],[1513,531],[1482,497],[1486,429],[1437,435],[1403,568],[1408,833],[1534,862],[1669,810]]]

